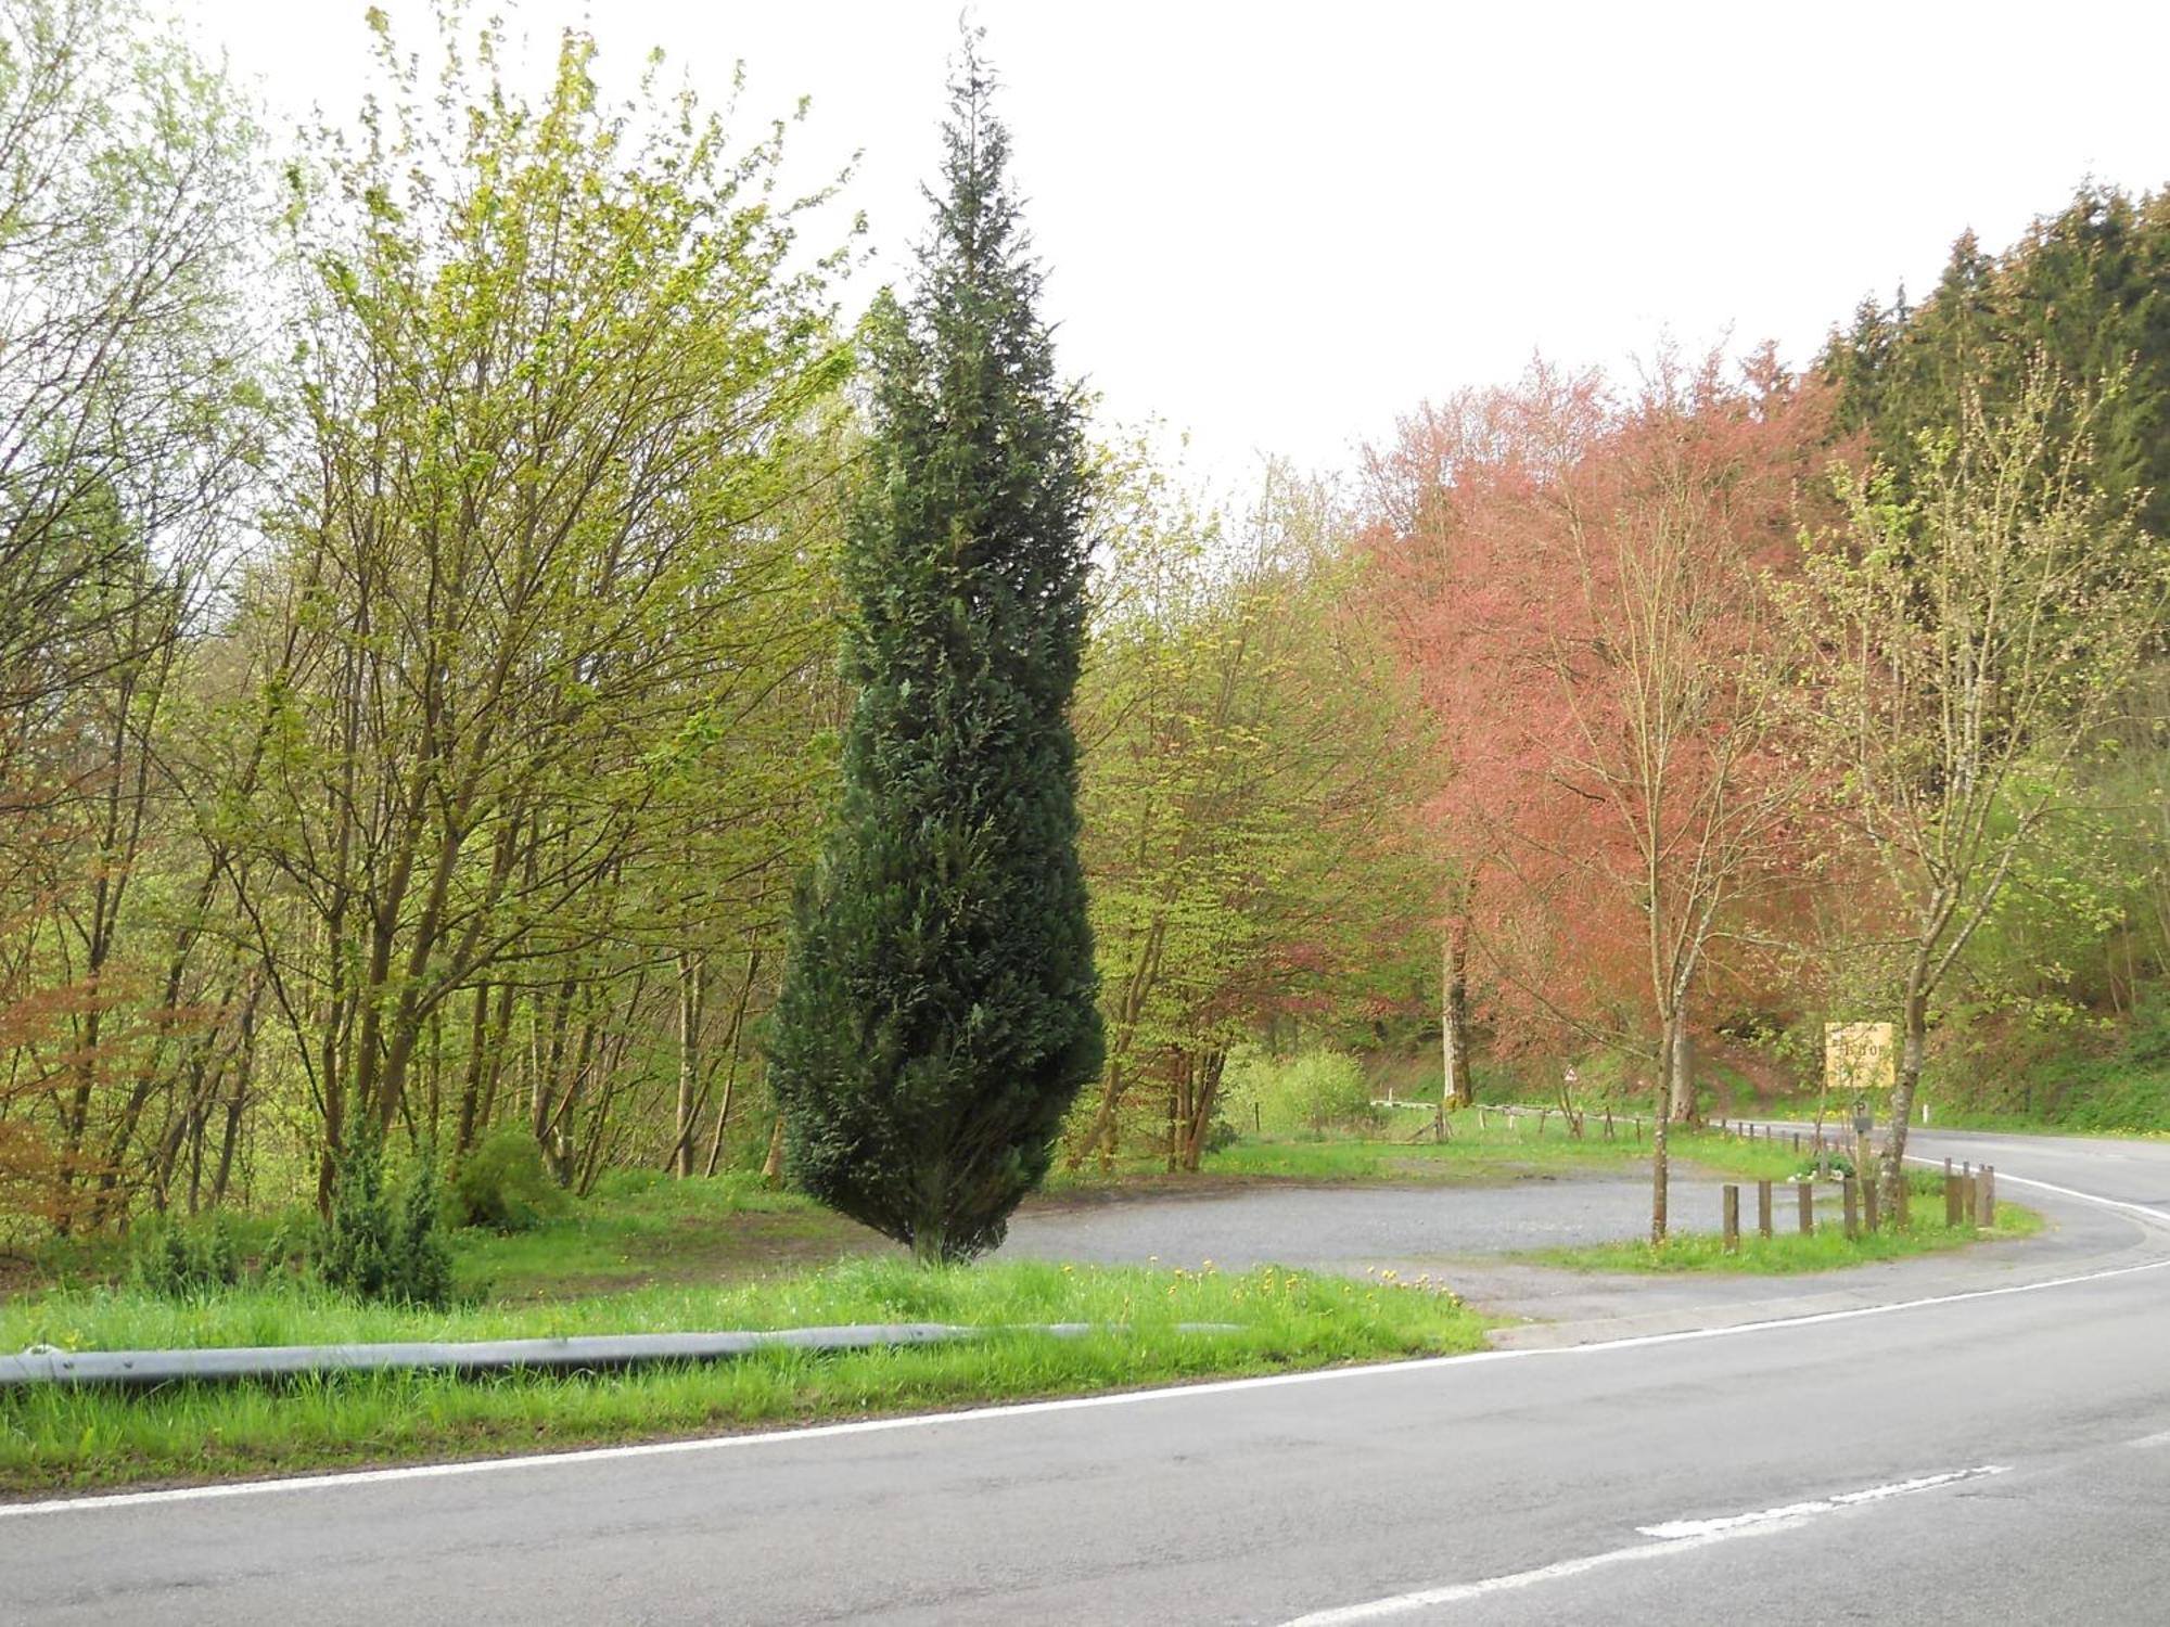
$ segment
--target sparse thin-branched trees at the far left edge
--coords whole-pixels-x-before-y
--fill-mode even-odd
[[[0,1232],[111,1224],[206,996],[176,681],[269,432],[256,132],[135,0],[0,2]],[[171,1178],[171,1158],[163,1178]]]

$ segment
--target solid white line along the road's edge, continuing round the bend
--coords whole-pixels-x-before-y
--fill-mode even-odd
[[[1927,1163],[1927,1161],[1925,1161]],[[1999,1180],[2018,1182],[2020,1176],[1999,1174]],[[2094,1197],[2092,1193],[2027,1182],[2079,1197],[2109,1208],[2133,1208],[2157,1221],[2170,1224],[2170,1215],[2142,1204],[2124,1204],[2116,1197]],[[1354,1380],[1400,1378],[1406,1373],[1432,1373],[1450,1367],[1476,1367],[1484,1362],[1517,1360],[1560,1360],[1573,1356],[1604,1356],[1614,1349],[1647,1349],[1651,1345],[1686,1345],[1699,1338],[1738,1338],[1762,1334],[1775,1328],[1818,1328],[1834,1321],[1858,1321],[1862,1317],[1888,1317],[1899,1310],[1927,1310],[1931,1306],[1955,1306],[1970,1299],[2003,1299],[2016,1293],[2044,1293],[2048,1289],[2070,1289],[2081,1282],[2105,1282],[2142,1271],[2170,1269],[2170,1258],[2144,1260],[2140,1265],[2114,1265],[2103,1271],[2081,1271],[2068,1278],[2044,1278],[2040,1282],[2007,1282],[1999,1289],[1966,1289],[1962,1293],[1938,1293],[1925,1299],[1894,1299],[1881,1306],[1849,1306],[1847,1310],[1816,1310],[1805,1317],[1771,1317],[1766,1321],[1736,1321],[1719,1328],[1682,1328],[1669,1334],[1632,1334],[1628,1338],[1606,1338],[1588,1345],[1536,1345],[1528,1349],[1476,1349],[1463,1356],[1419,1356],[1406,1362],[1371,1362],[1367,1367],[1322,1367],[1309,1373],[1267,1373],[1263,1378],[1224,1378],[1209,1384],[1165,1384],[1150,1391],[1113,1391],[1107,1395],[1070,1395],[1059,1401],[1018,1401],[1011,1406],[974,1406],[959,1412],[909,1412],[896,1419],[853,1419],[851,1423],[818,1423],[805,1430],[768,1430],[764,1434],[699,1436],[694,1440],[647,1440],[634,1447],[584,1447],[579,1451],[536,1451],[523,1458],[467,1458],[462,1462],[408,1464],[401,1469],[354,1469],[339,1475],[289,1475],[284,1479],[239,1479],[219,1486],[171,1486],[148,1493],[111,1493],[106,1497],[52,1497],[37,1503],[0,1503],[0,1519],[22,1519],[28,1514],[78,1514],[111,1508],[145,1508],[152,1503],[202,1503],[221,1497],[263,1497],[269,1493],[332,1490],[339,1486],[378,1486],[399,1479],[449,1479],[454,1475],[488,1475],[506,1469],[553,1469],[560,1464],[623,1462],[627,1458],[671,1458],[690,1451],[740,1451],[751,1447],[790,1445],[796,1440],[831,1440],[838,1436],[890,1434],[896,1430],[927,1430],[942,1423],[979,1423],[983,1419],[1033,1419],[1052,1412],[1085,1412],[1102,1406],[1139,1406],[1144,1401],[1176,1401],[1200,1395],[1239,1395],[1246,1391],[1272,1391],[1289,1384],[1345,1384]]]

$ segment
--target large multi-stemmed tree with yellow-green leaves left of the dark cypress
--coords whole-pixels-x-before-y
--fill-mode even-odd
[[[432,1135],[519,1100],[579,1184],[671,1078],[658,950],[742,1013],[809,846],[831,267],[781,132],[612,106],[577,33],[529,100],[458,11],[434,85],[373,28],[362,134],[291,174],[306,434],[204,774],[330,1148],[427,1074]]]

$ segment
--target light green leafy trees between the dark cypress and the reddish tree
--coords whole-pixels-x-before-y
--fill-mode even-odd
[[[1276,1013],[1361,1013],[1406,965],[1426,757],[1352,612],[1330,488],[1274,466],[1248,512],[1209,512],[1139,449],[1109,462],[1102,521],[1078,727],[1109,1061],[1072,1154],[1113,1158],[1128,1130],[1196,1167],[1235,1043]]]

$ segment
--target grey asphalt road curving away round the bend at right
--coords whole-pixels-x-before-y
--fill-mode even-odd
[[[0,1618],[2170,1620],[2170,1145],[1920,1150],[2055,1234],[1777,1323],[0,1510]]]

